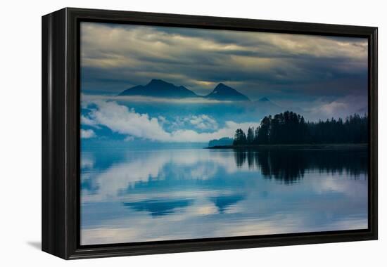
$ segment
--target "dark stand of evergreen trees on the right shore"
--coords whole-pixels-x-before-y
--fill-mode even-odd
[[[368,116],[350,115],[345,119],[305,122],[303,116],[286,111],[265,116],[260,126],[247,133],[236,129],[233,146],[279,144],[367,143]]]

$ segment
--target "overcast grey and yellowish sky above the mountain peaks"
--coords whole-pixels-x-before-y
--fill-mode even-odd
[[[82,22],[81,51],[82,93],[163,79],[200,95],[222,82],[252,100],[367,107],[367,39]]]

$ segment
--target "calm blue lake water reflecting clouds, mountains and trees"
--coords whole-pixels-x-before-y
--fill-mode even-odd
[[[367,150],[82,151],[82,245],[367,228]]]

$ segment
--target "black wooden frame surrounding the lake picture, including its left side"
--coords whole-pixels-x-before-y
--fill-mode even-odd
[[[369,89],[367,230],[80,246],[80,22],[366,37]],[[377,27],[63,8],[42,17],[42,250],[63,259],[376,240]]]

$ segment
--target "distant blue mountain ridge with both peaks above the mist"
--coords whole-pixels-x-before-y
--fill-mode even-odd
[[[161,79],[152,79],[145,86],[133,86],[122,91],[118,96],[152,96],[164,98],[208,98],[215,100],[250,101],[250,99],[225,84],[217,84],[207,96],[199,96],[184,86],[176,86]]]

